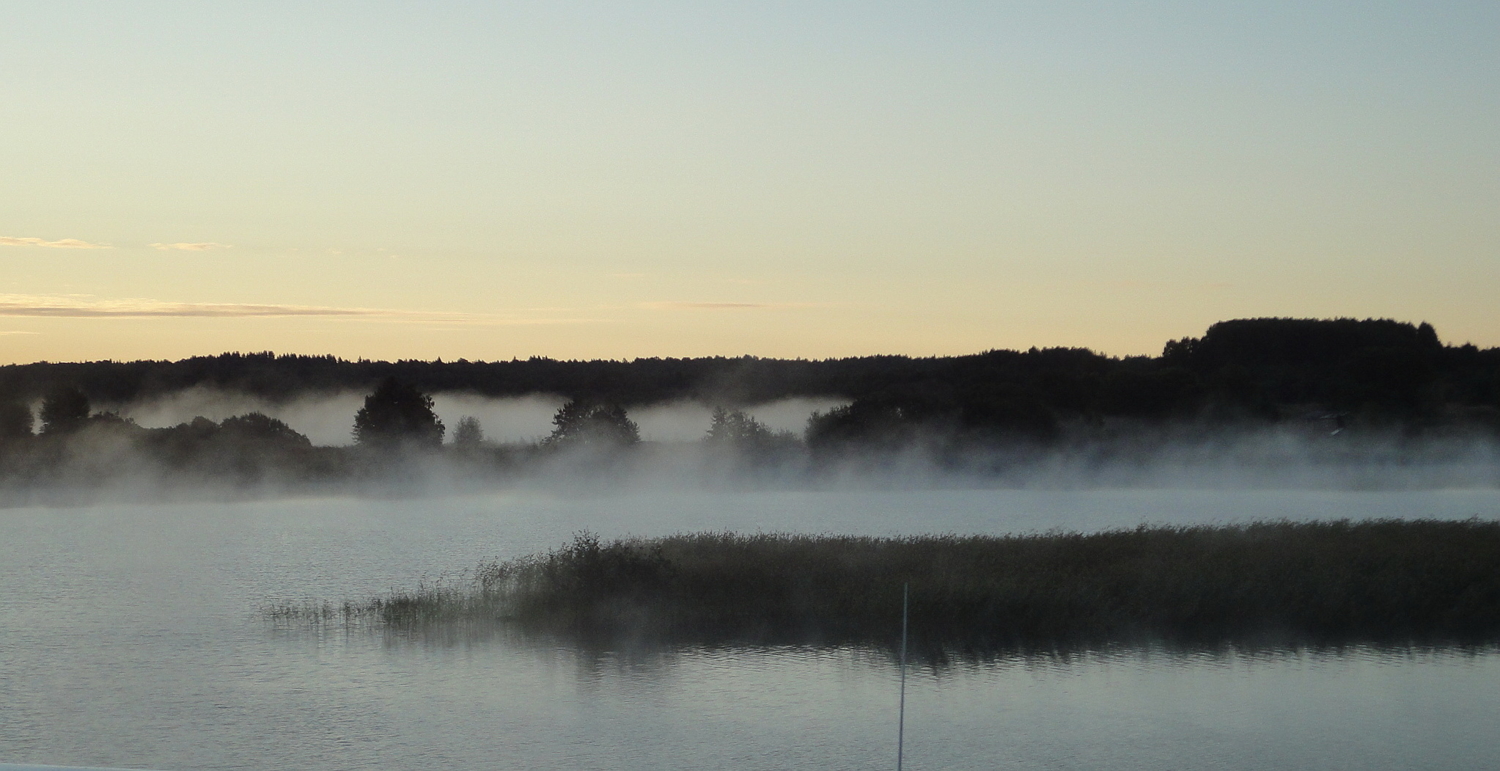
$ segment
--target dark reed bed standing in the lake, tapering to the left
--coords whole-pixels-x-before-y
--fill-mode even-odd
[[[1260,522],[1100,534],[729,532],[600,542],[288,618],[500,621],[666,644],[885,644],[912,586],[926,648],[1500,639],[1500,522]]]

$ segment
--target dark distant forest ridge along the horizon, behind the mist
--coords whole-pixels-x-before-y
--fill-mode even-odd
[[[898,444],[933,430],[974,442],[1047,442],[1080,426],[1166,422],[1500,430],[1500,348],[1444,345],[1425,322],[1256,318],[1221,321],[1202,338],[1170,340],[1155,357],[1030,348],[828,360],[348,362],[222,354],[9,364],[0,366],[0,434],[21,434],[27,405],[60,388],[108,404],[189,387],[290,400],[369,392],[382,382],[406,384],[422,394],[558,394],[578,405],[567,416],[570,426],[594,426],[576,429],[584,434],[606,432],[604,426],[616,430],[626,408],[650,404],[746,408],[786,398],[846,400],[808,424],[804,438],[810,444]],[[610,410],[620,414],[608,417]],[[474,429],[468,426],[466,435]],[[436,430],[441,441],[441,430]]]

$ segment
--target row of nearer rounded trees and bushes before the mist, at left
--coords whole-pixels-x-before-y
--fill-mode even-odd
[[[504,476],[528,460],[580,448],[612,454],[640,441],[626,410],[570,400],[554,416],[554,432],[528,446],[486,442],[474,417],[459,420],[453,442],[432,396],[386,378],[352,416],[352,446],[315,447],[303,434],[261,412],[213,422],[195,417],[168,428],[142,428],[108,410],[93,410],[76,387],[50,392],[38,414],[20,402],[0,411],[0,490],[96,488],[111,480],[320,486],[399,482],[420,464],[442,458],[476,477]],[[38,424],[39,423],[39,424]]]

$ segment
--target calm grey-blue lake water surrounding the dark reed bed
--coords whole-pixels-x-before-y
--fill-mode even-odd
[[[585,652],[276,628],[573,531],[860,534],[1500,516],[1500,492],[542,494],[0,510],[0,762],[843,770],[894,760],[862,650]],[[1112,651],[920,668],[908,768],[1482,768],[1500,654]]]

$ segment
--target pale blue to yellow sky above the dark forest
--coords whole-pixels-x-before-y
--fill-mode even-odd
[[[1500,345],[1500,3],[0,0],[0,363]]]

